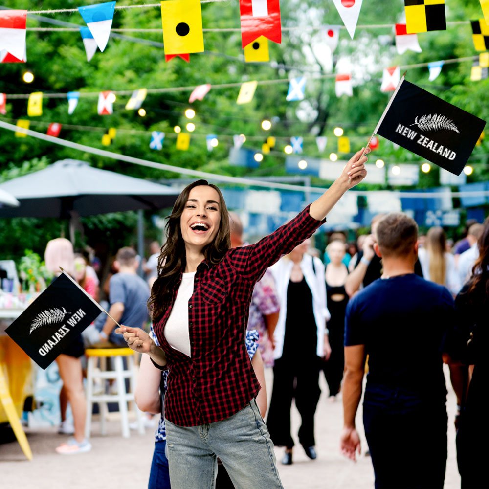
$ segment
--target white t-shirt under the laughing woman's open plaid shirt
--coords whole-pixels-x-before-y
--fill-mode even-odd
[[[165,338],[172,348],[190,355],[190,335],[188,331],[188,300],[194,293],[195,272],[182,275],[175,304],[165,326]]]

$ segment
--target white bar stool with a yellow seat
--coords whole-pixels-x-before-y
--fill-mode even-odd
[[[90,348],[85,350],[87,362],[87,420],[85,424],[85,436],[90,438],[91,417],[93,404],[98,403],[100,409],[100,428],[102,435],[105,431],[105,418],[108,413],[108,402],[118,402],[121,416],[122,436],[129,438],[128,402],[132,402],[137,417],[139,434],[144,434],[144,416],[134,402],[134,389],[136,387],[136,367],[134,363],[135,352],[130,348]],[[123,357],[127,359],[127,369],[124,369]],[[107,358],[114,363],[113,370],[105,370]],[[100,370],[97,368],[100,359]],[[125,379],[129,378],[129,392],[126,391]],[[116,381],[116,394],[96,394],[94,392],[95,382],[99,379],[114,379]],[[105,381],[102,382],[105,386]]]

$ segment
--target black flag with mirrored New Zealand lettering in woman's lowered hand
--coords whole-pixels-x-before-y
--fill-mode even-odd
[[[45,369],[101,311],[104,309],[63,272],[5,331]]]

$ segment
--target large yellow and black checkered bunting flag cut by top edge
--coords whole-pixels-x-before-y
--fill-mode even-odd
[[[406,32],[446,30],[445,0],[404,0]]]

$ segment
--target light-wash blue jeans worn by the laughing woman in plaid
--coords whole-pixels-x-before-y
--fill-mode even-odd
[[[255,400],[230,418],[210,424],[186,427],[165,422],[174,488],[214,489],[219,457],[236,489],[283,489]]]

